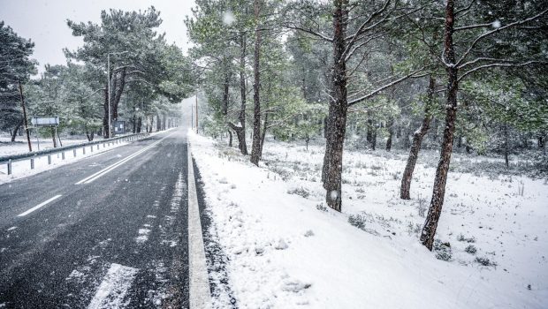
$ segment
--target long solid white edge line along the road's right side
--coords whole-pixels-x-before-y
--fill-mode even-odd
[[[202,223],[196,183],[194,182],[194,166],[190,145],[188,154],[188,276],[190,309],[210,308],[211,291],[209,290],[208,268],[206,266],[205,250],[203,248]]]

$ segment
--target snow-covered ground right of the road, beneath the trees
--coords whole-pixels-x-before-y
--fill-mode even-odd
[[[339,214],[323,203],[323,147],[268,142],[257,168],[238,149],[192,132],[189,139],[242,308],[548,304],[545,180],[450,173],[438,251],[429,252],[418,236],[430,163],[417,165],[413,200],[400,200],[405,155],[346,151]]]

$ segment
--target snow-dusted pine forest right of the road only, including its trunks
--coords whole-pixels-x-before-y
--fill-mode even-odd
[[[235,136],[258,165],[266,135],[322,140],[325,202],[340,211],[345,147],[439,150],[421,242],[432,249],[454,151],[544,153],[548,7],[543,1],[197,0],[189,57],[202,130]],[[235,146],[234,146],[235,147]],[[536,169],[548,168],[546,156]],[[367,188],[365,188],[367,190]]]

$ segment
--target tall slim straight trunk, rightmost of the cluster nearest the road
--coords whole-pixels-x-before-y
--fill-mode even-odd
[[[260,13],[260,0],[254,1],[255,8],[255,20],[258,22]],[[261,101],[259,97],[259,90],[261,88],[261,30],[257,25],[255,28],[255,50],[254,50],[254,84],[253,84],[253,143],[251,146],[251,162],[255,165],[259,165],[259,159],[261,158]]]

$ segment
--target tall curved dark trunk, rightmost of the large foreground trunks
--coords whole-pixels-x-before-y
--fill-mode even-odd
[[[434,237],[438,229],[439,216],[444,205],[445,184],[449,172],[449,163],[453,151],[453,136],[457,118],[457,93],[459,91],[458,74],[459,70],[455,65],[455,54],[453,47],[453,25],[454,25],[454,0],[447,0],[445,6],[445,63],[447,72],[447,98],[445,104],[445,129],[441,145],[441,154],[434,179],[432,200],[426,222],[422,228],[421,242],[430,251],[434,245]]]

